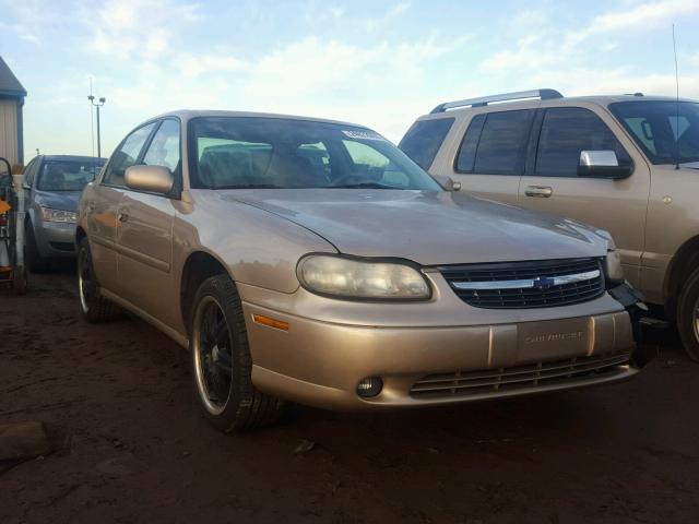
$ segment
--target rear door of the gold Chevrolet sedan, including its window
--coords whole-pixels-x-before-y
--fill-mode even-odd
[[[123,139],[84,202],[95,274],[102,287],[117,295],[121,290],[117,275],[117,206],[126,189],[123,174],[137,163],[154,128],[155,123],[142,126]]]

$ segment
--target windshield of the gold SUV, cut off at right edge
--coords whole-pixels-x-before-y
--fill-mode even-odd
[[[619,102],[609,109],[653,164],[699,160],[699,104]]]

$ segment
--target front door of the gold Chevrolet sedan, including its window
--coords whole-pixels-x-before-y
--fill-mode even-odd
[[[178,120],[158,122],[139,164],[164,166],[180,177],[180,124]],[[175,184],[179,186],[178,182]],[[127,188],[118,204],[117,265],[121,296],[149,315],[173,325],[178,303],[171,282],[173,222],[171,195]]]

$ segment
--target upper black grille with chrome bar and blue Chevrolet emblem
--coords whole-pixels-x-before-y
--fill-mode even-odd
[[[528,309],[580,303],[604,291],[600,259],[442,266],[464,302],[476,308]]]

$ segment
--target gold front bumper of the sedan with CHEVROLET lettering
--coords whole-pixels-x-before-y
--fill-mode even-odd
[[[337,310],[308,318],[297,310],[292,314],[285,307],[283,307],[289,298],[260,305],[246,300],[245,289],[242,295],[253,383],[261,391],[317,407],[453,404],[615,382],[638,371],[631,364],[636,342],[630,314],[606,294],[580,305],[584,307],[555,308],[558,318],[550,318],[554,308],[490,311],[493,322],[474,325],[401,326],[387,325],[384,319],[371,321],[371,311],[380,311],[374,305],[365,305],[366,322],[348,323]],[[392,307],[383,305],[384,311]],[[356,317],[354,308],[346,306],[346,317]],[[478,313],[483,317],[483,311],[472,317]],[[288,331],[256,323],[253,314],[286,322]],[[357,394],[358,382],[367,377],[383,381],[372,398]]]

